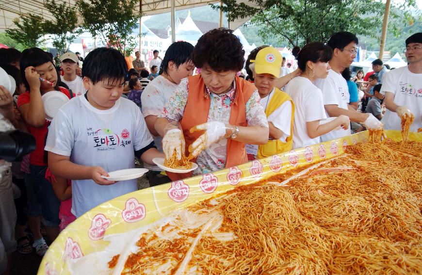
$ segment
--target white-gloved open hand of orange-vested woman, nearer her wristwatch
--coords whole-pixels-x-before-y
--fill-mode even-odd
[[[192,144],[189,146],[190,155],[194,158],[199,153],[208,148],[211,144],[223,139],[226,136],[226,124],[220,121],[209,121],[200,125],[196,125],[190,129],[190,132],[205,130],[205,133],[200,135]]]

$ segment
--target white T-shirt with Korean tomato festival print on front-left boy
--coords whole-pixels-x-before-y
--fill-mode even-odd
[[[70,100],[55,115],[45,150],[107,172],[135,167],[134,150],[152,142],[141,111],[120,97],[109,110],[98,110],[85,97]],[[137,180],[99,185],[92,179],[72,180],[72,213],[79,217],[99,204],[137,190]]]

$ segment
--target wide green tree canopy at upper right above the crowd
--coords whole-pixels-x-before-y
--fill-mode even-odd
[[[373,0],[249,0],[249,4],[236,0],[223,0],[223,11],[229,21],[252,16],[250,23],[260,27],[263,40],[276,35],[279,42],[292,46],[303,46],[312,41],[326,41],[333,32],[349,31],[372,37],[380,26],[385,5]],[[409,20],[412,16],[400,16],[397,9],[414,6],[413,0],[394,6],[390,11],[393,18],[390,30],[398,32],[397,22]],[[212,5],[220,9],[220,5]]]

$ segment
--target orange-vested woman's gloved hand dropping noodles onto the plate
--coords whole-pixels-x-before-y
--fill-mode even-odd
[[[175,151],[177,159],[182,159],[185,153],[185,138],[179,123],[171,122],[164,128],[162,151],[167,160],[173,157]]]

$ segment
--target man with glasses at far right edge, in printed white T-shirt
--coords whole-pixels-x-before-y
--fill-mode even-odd
[[[401,129],[401,119],[414,116],[410,131],[422,128],[422,32],[406,39],[408,65],[384,75],[381,94],[387,111],[381,122],[385,129]],[[397,115],[396,115],[397,113]]]

